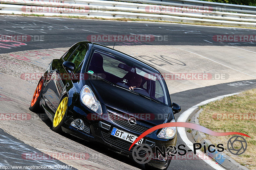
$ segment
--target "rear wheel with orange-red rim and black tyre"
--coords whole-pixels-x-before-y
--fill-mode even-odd
[[[42,113],[43,109],[40,106],[40,100],[43,93],[44,80],[41,78],[36,86],[36,90],[32,97],[29,110],[35,113]]]

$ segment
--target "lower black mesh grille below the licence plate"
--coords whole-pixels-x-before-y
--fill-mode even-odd
[[[103,140],[105,142],[107,142],[108,144],[111,144],[117,148],[123,149],[125,151],[129,151],[129,148],[131,146],[132,143],[127,142],[123,139],[119,139],[117,137],[114,137],[113,135],[110,135],[109,131],[105,131],[105,130],[101,130],[101,135],[103,137]],[[144,142],[143,142],[144,143]],[[132,146],[131,150],[129,152],[132,152],[133,148],[136,146],[136,144],[134,146]],[[141,150],[139,151],[139,154],[144,154],[146,153],[146,151]]]

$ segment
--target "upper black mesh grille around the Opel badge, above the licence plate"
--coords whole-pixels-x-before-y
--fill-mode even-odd
[[[145,126],[142,126],[139,124],[130,125],[128,120],[126,120],[118,115],[115,115],[113,113],[108,112],[108,115],[113,122],[127,128],[127,129],[133,130],[135,132],[143,133],[149,129],[148,127],[145,127]]]

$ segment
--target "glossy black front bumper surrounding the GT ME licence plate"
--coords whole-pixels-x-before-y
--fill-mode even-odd
[[[102,110],[104,109],[102,108]],[[71,135],[74,135],[86,141],[99,142],[101,144],[106,145],[108,149],[114,152],[117,152],[119,154],[132,158],[132,150],[135,146],[133,146],[132,149],[129,151],[129,148],[132,143],[125,141],[123,139],[117,138],[115,136],[112,136],[111,131],[113,128],[117,128],[127,133],[133,134],[137,137],[140,136],[141,133],[127,129],[115,123],[111,119],[89,120],[88,115],[90,114],[90,110],[87,110],[87,108],[82,105],[69,107],[68,112],[70,113],[67,113],[67,117],[65,118],[65,121],[62,125],[62,130],[64,132],[67,132]],[[88,130],[82,131],[71,126],[70,123],[75,119],[82,119],[84,122],[84,127],[88,128],[89,131]],[[152,151],[154,154],[156,146],[159,147],[160,149],[162,149],[163,146],[165,146],[166,148],[170,145],[175,146],[177,141],[177,134],[173,139],[160,139],[157,137],[157,130],[156,130],[143,138],[144,138],[143,144],[148,144],[152,148]],[[140,155],[144,155],[145,153],[146,152],[143,152],[143,151],[139,152]],[[154,160],[151,160],[148,164],[151,166],[155,166],[159,169],[164,169],[169,165],[168,164],[169,161],[170,161],[170,158],[167,159],[166,161],[154,159]]]

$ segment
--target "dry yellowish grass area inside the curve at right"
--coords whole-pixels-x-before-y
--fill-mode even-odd
[[[222,100],[214,101],[201,106],[203,111],[199,115],[200,125],[216,132],[240,132],[249,135],[246,151],[239,156],[229,156],[241,165],[248,165],[249,169],[256,168],[256,118],[252,120],[225,120],[217,119],[217,114],[254,114],[256,115],[256,89],[242,92],[238,95],[229,96]],[[227,149],[227,141],[231,136],[214,137],[206,135],[206,138],[214,144],[224,144]],[[235,146],[237,148],[238,146]],[[240,147],[239,147],[240,148]],[[249,166],[250,165],[250,166]]]

